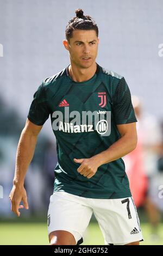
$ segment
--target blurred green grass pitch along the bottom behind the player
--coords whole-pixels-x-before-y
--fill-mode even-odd
[[[141,224],[144,240],[141,245],[163,245],[163,224],[158,237],[152,236],[148,223]],[[0,245],[48,245],[45,223],[0,223]],[[97,223],[90,223],[82,245],[104,245]]]

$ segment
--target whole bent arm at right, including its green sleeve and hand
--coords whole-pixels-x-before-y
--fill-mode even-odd
[[[127,155],[136,148],[137,120],[131,103],[130,90],[124,77],[118,82],[115,93],[112,96],[112,114],[121,138],[108,149],[89,159],[74,159],[74,162],[80,163],[77,171],[88,179],[95,175],[97,168],[102,164],[120,159],[120,157]]]

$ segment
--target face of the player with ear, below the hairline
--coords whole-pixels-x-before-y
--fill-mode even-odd
[[[90,68],[96,62],[99,39],[94,30],[74,30],[72,38],[63,41],[70,53],[71,63],[79,68]]]

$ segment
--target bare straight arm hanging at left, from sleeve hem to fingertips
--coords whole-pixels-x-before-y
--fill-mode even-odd
[[[24,179],[30,162],[33,159],[37,135],[42,125],[35,125],[27,119],[26,125],[21,133],[16,154],[16,167],[13,180],[13,187],[10,192],[11,210],[19,217],[20,208],[28,209],[27,194],[24,189]],[[20,205],[20,202],[23,205]]]

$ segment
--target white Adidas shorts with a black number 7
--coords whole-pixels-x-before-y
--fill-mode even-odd
[[[95,215],[104,236],[105,245],[126,245],[141,241],[139,217],[131,197],[94,199],[57,191],[52,194],[48,209],[48,234],[56,230],[70,232],[77,245]]]

